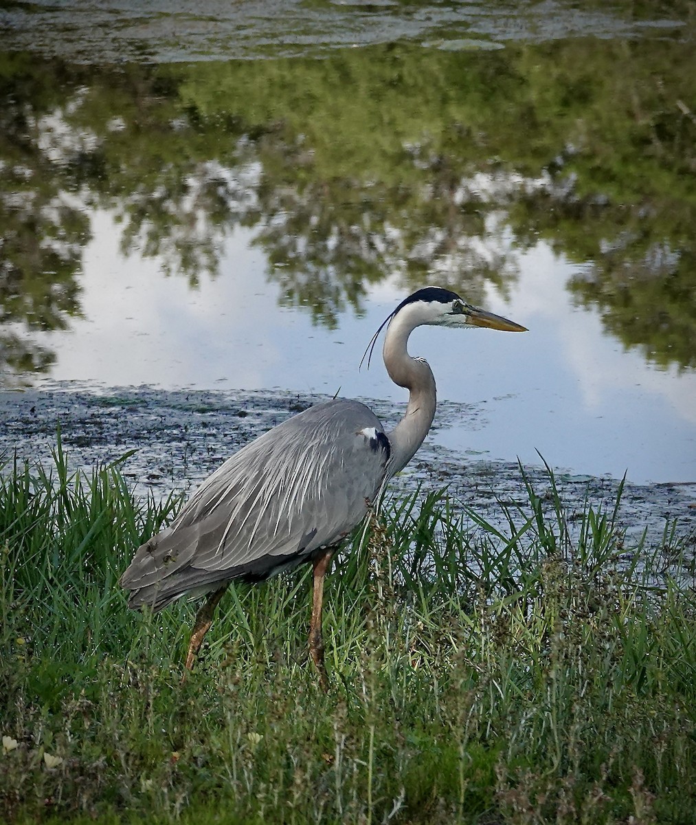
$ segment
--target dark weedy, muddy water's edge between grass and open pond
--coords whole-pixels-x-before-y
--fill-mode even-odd
[[[52,464],[60,428],[63,450],[74,469],[91,472],[133,451],[122,471],[141,496],[186,492],[213,472],[235,450],[286,417],[325,400],[322,396],[272,391],[166,391],[152,387],[102,388],[51,384],[44,389],[0,390],[0,456]],[[400,405],[366,400],[389,428]],[[445,485],[463,506],[492,523],[501,523],[501,504],[529,507],[520,467],[514,462],[475,460],[437,443],[439,429],[470,415],[466,405],[441,403],[434,429],[416,459],[393,479],[396,493],[419,485],[430,492]],[[553,466],[553,464],[552,464]],[[550,489],[543,466],[524,472],[539,495]],[[554,470],[557,487],[572,519],[592,507],[612,508],[620,479],[576,476]],[[664,543],[665,526],[676,522],[674,538],[689,555],[696,542],[696,482],[624,488],[620,523],[627,544],[647,530],[649,547]]]

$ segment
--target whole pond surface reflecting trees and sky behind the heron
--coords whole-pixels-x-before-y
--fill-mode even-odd
[[[414,333],[435,446],[694,482],[679,7],[168,8],[2,12],[5,384],[397,403],[360,357],[434,283],[529,328]]]

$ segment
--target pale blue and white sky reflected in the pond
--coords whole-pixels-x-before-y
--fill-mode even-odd
[[[69,332],[45,332],[52,380],[165,389],[291,389],[403,401],[379,359],[359,370],[374,330],[403,297],[397,280],[369,290],[367,311],[334,330],[277,306],[253,231],[224,242],[219,276],[189,290],[162,262],[124,256],[112,214],[92,216],[82,309]],[[637,483],[693,481],[696,375],[657,370],[602,334],[599,314],[576,309],[565,288],[577,267],[545,243],[517,257],[520,275],[487,309],[529,328],[524,335],[423,328],[411,353],[435,371],[440,398],[471,405],[461,425],[430,436],[467,456],[550,464],[572,474]],[[436,422],[437,423],[437,422]]]

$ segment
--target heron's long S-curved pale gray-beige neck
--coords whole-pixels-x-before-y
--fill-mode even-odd
[[[435,377],[426,361],[416,361],[408,354],[408,336],[417,326],[408,316],[402,312],[393,318],[384,337],[383,358],[389,378],[408,390],[406,414],[387,434],[392,448],[390,476],[397,474],[416,455],[435,417]]]

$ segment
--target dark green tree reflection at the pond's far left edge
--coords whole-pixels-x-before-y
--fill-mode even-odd
[[[44,67],[45,68],[45,67]],[[54,356],[19,327],[64,329],[79,314],[75,273],[89,222],[66,186],[49,134],[62,98],[57,78],[21,56],[0,71],[0,380],[45,372]],[[79,164],[82,148],[71,149]],[[70,175],[68,174],[68,177]]]

